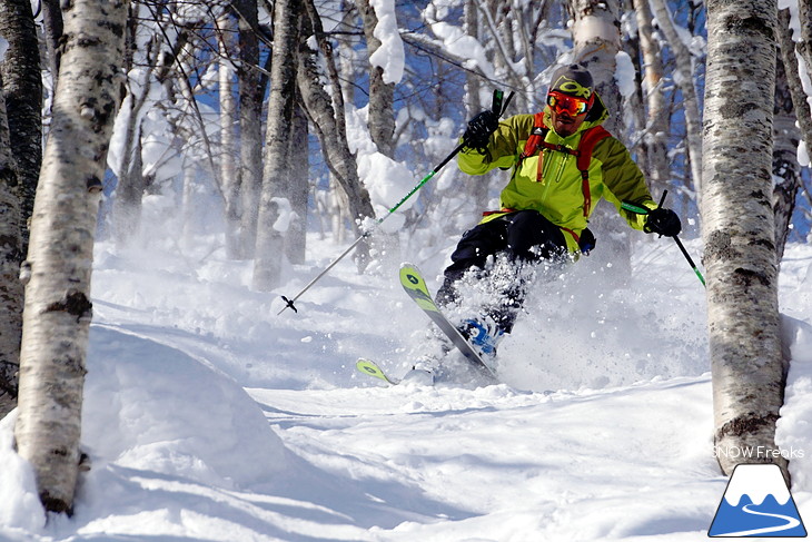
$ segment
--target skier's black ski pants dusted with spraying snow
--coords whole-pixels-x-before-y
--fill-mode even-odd
[[[458,302],[457,283],[472,268],[483,272],[487,279],[485,264],[491,256],[504,254],[516,268],[516,282],[507,292],[502,292],[502,299],[487,312],[494,321],[509,333],[526,296],[526,284],[523,284],[518,268],[526,263],[543,259],[554,260],[567,252],[566,239],[561,228],[535,210],[518,210],[478,224],[467,230],[452,254],[452,265],[446,267],[445,280],[437,293],[439,305]]]

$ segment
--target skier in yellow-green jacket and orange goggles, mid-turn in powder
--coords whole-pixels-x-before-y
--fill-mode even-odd
[[[501,208],[484,213],[462,236],[437,305],[468,313],[458,328],[484,359],[493,359],[511,332],[538,264],[576,259],[595,247],[587,221],[598,198],[613,203],[634,229],[680,233],[677,215],[654,203],[626,147],[601,127],[607,117],[592,75],[575,63],[554,72],[542,112],[499,121],[495,112],[483,111],[468,122],[459,169],[483,175],[502,168],[512,175]],[[648,214],[626,211],[622,201]],[[466,305],[466,287],[483,282],[496,296],[485,306]]]

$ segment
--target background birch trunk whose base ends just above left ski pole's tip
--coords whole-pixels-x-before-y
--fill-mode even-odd
[[[296,98],[296,48],[301,0],[277,0],[274,11],[274,51],[266,132],[265,170],[257,217],[254,289],[269,292],[279,285],[285,254],[284,231],[278,227],[289,207],[288,174],[290,125]]]

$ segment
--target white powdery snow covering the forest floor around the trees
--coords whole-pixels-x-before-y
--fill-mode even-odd
[[[13,413],[0,422],[0,540],[705,540],[726,479],[704,293],[669,239],[635,245],[625,285],[597,255],[539,285],[503,343],[505,383],[483,387],[386,387],[354,368],[365,356],[405,373],[427,319],[397,284],[399,260],[436,288],[447,252],[413,258],[405,244],[363,276],[347,258],[277,316],[279,295],[344,246],[313,236],[307,265],[258,294],[250,265],[214,240],[166,239],[98,245],[92,466],[72,518],[46,521]],[[686,245],[699,262],[700,243]],[[809,529],[812,246],[786,253],[794,362],[778,441],[794,451]]]

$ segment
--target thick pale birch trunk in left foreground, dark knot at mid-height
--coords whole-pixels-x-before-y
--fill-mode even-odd
[[[31,221],[17,447],[46,509],[70,512],[79,467],[90,275],[123,73],[127,1],[66,4],[59,89]]]

